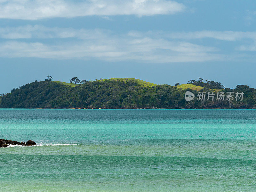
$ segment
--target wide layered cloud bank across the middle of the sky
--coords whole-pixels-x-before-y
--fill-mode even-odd
[[[103,29],[49,28],[41,25],[27,25],[0,28],[0,38],[2,39],[0,57],[171,63],[230,60],[230,58],[237,59],[239,54],[242,55],[240,52],[256,51],[256,32],[130,31],[116,34]],[[214,46],[211,46],[211,43],[209,46],[209,42],[205,45],[204,38],[212,39]],[[195,39],[200,39],[200,41],[195,43]],[[216,41],[217,44],[214,43]],[[233,53],[227,53],[227,43],[224,49],[219,43],[223,41],[239,41],[240,45],[231,46],[229,52]],[[246,57],[244,53],[243,57]]]

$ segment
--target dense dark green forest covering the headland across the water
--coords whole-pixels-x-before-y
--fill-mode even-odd
[[[0,96],[0,108],[256,108],[256,90],[246,85],[236,89],[224,88],[218,82],[189,82],[203,86],[200,92],[244,92],[242,101],[185,100],[185,92],[197,96],[198,92],[171,85],[143,86],[134,81],[97,80],[84,81],[77,86],[53,82],[35,81],[12,93]]]

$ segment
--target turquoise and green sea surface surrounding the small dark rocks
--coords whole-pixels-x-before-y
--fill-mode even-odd
[[[256,110],[0,109],[0,191],[256,191]]]

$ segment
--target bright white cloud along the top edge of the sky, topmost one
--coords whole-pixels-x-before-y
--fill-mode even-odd
[[[90,15],[148,16],[184,10],[183,4],[170,0],[0,0],[0,18],[23,20]]]

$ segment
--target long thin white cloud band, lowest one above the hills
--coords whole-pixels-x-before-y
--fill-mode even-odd
[[[103,41],[101,41],[103,40]],[[1,57],[52,59],[137,60],[147,62],[187,62],[218,59],[215,48],[163,39],[101,39],[76,43],[43,44],[7,41],[0,44]]]

